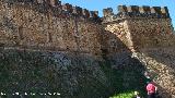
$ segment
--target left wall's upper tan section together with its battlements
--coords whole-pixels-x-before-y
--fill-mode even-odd
[[[0,9],[1,46],[100,53],[101,28],[93,12],[39,0],[1,0]]]

